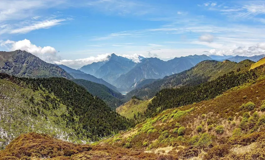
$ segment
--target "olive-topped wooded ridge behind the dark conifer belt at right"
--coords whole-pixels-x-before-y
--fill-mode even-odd
[[[166,76],[161,80],[144,85],[142,88],[130,91],[127,94],[127,100],[133,95],[144,99],[150,99],[163,88],[177,88],[181,85],[197,85],[208,80],[213,80],[229,71],[243,72],[249,70],[253,63],[253,61],[249,60],[244,60],[239,63],[228,60],[223,62],[214,60],[202,61],[189,70]]]

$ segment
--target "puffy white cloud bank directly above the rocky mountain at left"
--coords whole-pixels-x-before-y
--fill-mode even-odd
[[[22,41],[1,41],[0,44],[2,47],[7,47],[9,51],[22,50],[27,51],[41,60],[48,63],[53,63],[54,61],[60,60],[60,56],[57,56],[57,51],[51,46],[36,46],[31,43],[31,41],[24,39]]]

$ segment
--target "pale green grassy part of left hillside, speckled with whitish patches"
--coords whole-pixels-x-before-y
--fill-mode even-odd
[[[49,133],[65,140],[77,139],[76,135],[71,134],[74,130],[66,128],[66,122],[60,117],[68,112],[57,97],[41,90],[34,92],[22,88],[8,80],[0,80],[0,84],[0,148],[27,132]],[[56,99],[57,109],[46,101],[46,95]],[[38,103],[37,106],[30,101],[31,97],[35,99],[35,104]],[[42,105],[50,109],[44,109]]]

